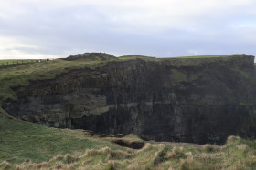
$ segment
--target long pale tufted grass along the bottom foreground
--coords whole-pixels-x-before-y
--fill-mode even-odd
[[[83,155],[56,155],[48,162],[7,161],[2,169],[255,169],[255,141],[230,136],[223,146],[172,147],[146,144],[140,150],[86,149]]]

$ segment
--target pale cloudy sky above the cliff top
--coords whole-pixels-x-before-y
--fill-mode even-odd
[[[0,59],[256,55],[254,0],[0,0]]]

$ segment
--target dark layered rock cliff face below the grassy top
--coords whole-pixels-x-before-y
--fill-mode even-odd
[[[55,127],[157,141],[222,143],[256,135],[254,57],[141,59],[16,88],[10,115]]]

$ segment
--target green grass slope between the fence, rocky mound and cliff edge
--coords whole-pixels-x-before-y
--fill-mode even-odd
[[[29,80],[50,79],[73,69],[95,68],[108,61],[102,61],[101,58],[81,58],[75,61],[57,59],[42,63],[0,66],[0,105],[6,100],[16,101],[16,93],[12,88],[27,86]]]

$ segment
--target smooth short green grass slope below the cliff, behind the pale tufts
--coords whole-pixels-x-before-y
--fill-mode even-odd
[[[78,154],[84,149],[108,146],[122,149],[82,130],[56,129],[9,117],[0,110],[0,162],[48,161],[54,155]],[[0,167],[1,169],[1,167]]]

